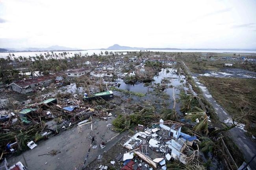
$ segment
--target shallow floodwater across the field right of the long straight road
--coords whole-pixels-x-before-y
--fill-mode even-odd
[[[206,71],[204,74],[192,74],[193,76],[209,77],[234,77],[243,79],[256,79],[256,72],[238,68],[225,68],[220,71]]]

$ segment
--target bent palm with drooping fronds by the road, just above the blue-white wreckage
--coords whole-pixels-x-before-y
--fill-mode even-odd
[[[188,115],[185,116],[185,119],[191,119],[192,121],[196,121],[197,119],[199,122],[196,126],[194,126],[195,132],[204,132],[206,135],[208,134],[208,117],[207,114],[200,108],[195,107],[194,112],[190,112]]]

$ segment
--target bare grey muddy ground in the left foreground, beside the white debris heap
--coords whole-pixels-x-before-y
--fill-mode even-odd
[[[111,130],[112,126],[107,127],[113,119],[108,119],[108,121],[93,119],[93,133],[95,135],[93,145],[97,145],[97,148],[91,149],[85,166],[98,157],[99,154],[104,155],[104,152],[114,146],[125,135],[125,133],[113,132]],[[110,139],[111,141],[109,141]],[[106,143],[106,148],[104,149],[100,148],[102,141]],[[81,130],[78,130],[77,126],[75,126],[70,130],[49,138],[47,141],[41,141],[34,149],[27,150],[19,156],[11,157],[7,161],[9,165],[21,161],[30,170],[74,170],[77,167],[82,168],[90,144],[91,123],[82,125]],[[38,156],[46,154],[51,150],[58,150],[61,153]]]

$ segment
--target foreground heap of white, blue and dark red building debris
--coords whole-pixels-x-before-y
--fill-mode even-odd
[[[141,131],[123,144],[132,151],[123,155],[122,170],[166,170],[168,161],[176,160],[187,164],[196,159],[199,151],[192,146],[197,137],[182,133],[182,125],[174,121],[164,122],[162,119],[159,124],[152,124],[147,128],[139,124],[137,129]]]

